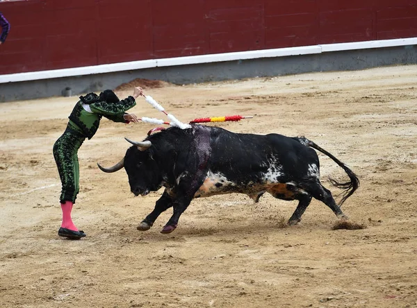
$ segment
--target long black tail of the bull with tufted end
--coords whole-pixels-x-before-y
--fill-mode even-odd
[[[338,187],[340,189],[343,189],[343,193],[341,194],[341,196],[343,196],[343,197],[341,199],[341,202],[339,203],[339,207],[341,205],[343,205],[345,200],[347,198],[349,198],[350,196],[352,196],[354,191],[356,191],[359,187],[359,178],[357,177],[357,175],[354,174],[354,172],[352,170],[347,168],[347,166],[345,164],[343,164],[343,162],[338,160],[336,157],[334,157],[332,154],[327,152],[325,149],[320,148],[320,146],[318,146],[317,144],[315,144],[311,140],[306,139],[306,137],[296,137],[295,139],[297,139],[297,141],[300,142],[301,144],[304,144],[304,146],[309,146],[309,147],[314,148],[317,151],[320,151],[321,153],[329,156],[330,158],[332,158],[332,160],[334,160],[334,162],[336,162],[336,164],[341,166],[343,168],[343,170],[347,173],[347,176],[349,176],[349,178],[350,178],[349,182],[344,182],[344,183],[343,182],[337,182],[333,178],[329,177],[329,181],[332,183],[332,185],[334,187]]]

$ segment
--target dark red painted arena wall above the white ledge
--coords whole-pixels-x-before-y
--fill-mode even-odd
[[[417,37],[416,0],[28,0],[0,11],[0,74]]]

